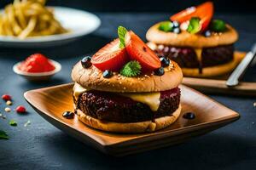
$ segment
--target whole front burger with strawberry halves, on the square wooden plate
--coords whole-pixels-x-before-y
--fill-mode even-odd
[[[73,101],[79,121],[112,133],[146,133],[170,126],[181,112],[183,74],[160,59],[133,31],[73,66]]]

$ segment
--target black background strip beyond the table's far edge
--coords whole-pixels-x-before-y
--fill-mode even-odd
[[[11,3],[13,0],[1,0],[0,5]],[[93,12],[170,12],[181,8],[200,4],[205,1],[193,0],[49,0],[48,5],[81,8]],[[217,0],[213,1],[216,12],[221,13],[255,13],[256,1]]]

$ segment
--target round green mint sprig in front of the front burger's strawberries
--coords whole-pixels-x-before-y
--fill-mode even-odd
[[[125,77],[137,77],[141,74],[142,66],[136,60],[128,62],[120,71]]]

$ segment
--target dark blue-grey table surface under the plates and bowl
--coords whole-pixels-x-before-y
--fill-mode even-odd
[[[116,37],[117,26],[126,26],[144,37],[149,26],[166,20],[168,14],[102,14],[102,26],[77,42],[53,48],[19,49],[0,48],[0,94],[11,94],[14,105],[25,105],[28,113],[0,112],[0,129],[9,134],[9,140],[0,140],[0,169],[255,169],[256,167],[256,102],[255,97],[232,97],[211,94],[213,99],[241,114],[240,120],[212,133],[191,139],[187,143],[152,150],[132,156],[115,158],[106,156],[76,139],[67,136],[46,122],[26,104],[23,93],[32,88],[42,88],[71,82],[70,71],[83,54],[92,54],[106,42]],[[249,50],[256,40],[256,14],[217,14],[228,20],[240,33],[236,43],[239,50]],[[51,82],[26,82],[12,71],[12,65],[27,55],[40,52],[62,65],[60,73]],[[246,81],[255,81],[255,67],[250,68]],[[9,126],[15,119],[17,127]],[[31,125],[24,127],[30,120]]]

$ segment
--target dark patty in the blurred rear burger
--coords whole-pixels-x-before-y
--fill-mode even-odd
[[[234,46],[222,45],[214,48],[203,48],[201,52],[201,62],[197,59],[193,48],[180,48],[172,46],[158,45],[155,49],[158,56],[166,56],[181,67],[200,68],[213,65],[222,65],[233,59]]]

